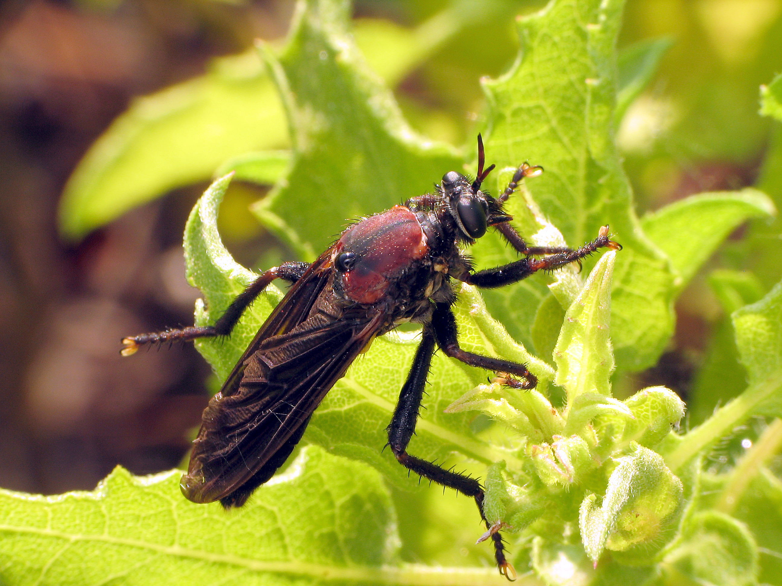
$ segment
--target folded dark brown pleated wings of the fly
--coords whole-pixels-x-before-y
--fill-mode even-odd
[[[228,393],[215,395],[204,410],[181,481],[190,500],[241,506],[282,466],[314,409],[385,323],[380,310],[343,315],[328,278],[321,284],[316,274],[310,268],[297,281],[261,327],[254,352],[245,353],[226,381]],[[318,291],[304,304],[306,313],[296,291]]]

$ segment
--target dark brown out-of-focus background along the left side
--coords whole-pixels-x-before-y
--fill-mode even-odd
[[[0,4],[0,486],[91,489],[117,463],[178,465],[210,373],[192,346],[122,360],[120,338],[192,322],[181,232],[199,188],[78,245],[56,204],[74,166],[135,95],[278,38],[292,3]]]

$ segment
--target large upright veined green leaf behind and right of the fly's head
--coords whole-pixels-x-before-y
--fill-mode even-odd
[[[620,369],[638,370],[655,363],[673,332],[673,277],[662,252],[640,230],[612,139],[621,10],[620,0],[560,0],[519,20],[517,63],[500,79],[483,83],[490,105],[486,160],[500,169],[525,160],[546,168],[527,187],[569,245],[581,245],[601,225],[611,225],[625,247],[612,298],[615,356]],[[511,213],[521,216],[523,203],[511,198]],[[490,266],[482,251],[501,247],[488,236],[482,241],[475,259]],[[512,252],[504,251],[504,258],[512,259]],[[532,322],[546,293],[533,293],[536,281],[529,281],[523,300],[501,300],[518,297],[521,288],[487,295],[500,320]],[[503,313],[511,307],[519,309]]]

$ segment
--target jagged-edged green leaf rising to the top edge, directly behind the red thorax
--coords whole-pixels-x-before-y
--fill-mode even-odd
[[[387,209],[461,169],[452,148],[414,134],[368,70],[350,38],[349,8],[345,0],[308,0],[279,60],[264,50],[288,114],[293,159],[287,180],[253,210],[308,260],[345,218]]]

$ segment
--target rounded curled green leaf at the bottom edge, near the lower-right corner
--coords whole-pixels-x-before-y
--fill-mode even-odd
[[[687,521],[683,544],[665,556],[663,567],[678,583],[748,586],[757,579],[758,551],[743,523],[705,511]]]

